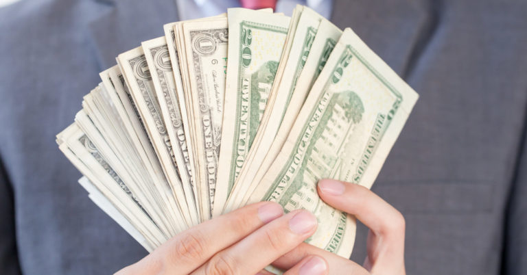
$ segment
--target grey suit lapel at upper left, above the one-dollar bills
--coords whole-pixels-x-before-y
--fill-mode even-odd
[[[101,2],[101,1],[99,1]],[[115,65],[119,53],[163,36],[163,25],[178,20],[174,0],[104,0],[108,11],[90,26],[101,69]]]

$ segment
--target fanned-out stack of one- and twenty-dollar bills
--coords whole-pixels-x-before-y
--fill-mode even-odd
[[[270,200],[312,211],[307,242],[349,257],[355,220],[316,183],[371,187],[417,93],[351,29],[300,5],[164,31],[117,56],[57,135],[90,198],[149,251]]]

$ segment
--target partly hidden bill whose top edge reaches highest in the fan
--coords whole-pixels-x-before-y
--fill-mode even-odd
[[[257,184],[254,180],[255,174],[259,168],[262,168],[261,165],[266,155],[271,153],[269,150],[271,144],[283,144],[285,142],[285,140],[276,140],[275,137],[282,124],[285,111],[290,105],[296,81],[309,57],[320,21],[323,20],[326,19],[310,8],[303,7],[301,10],[294,34],[290,35],[290,51],[282,61],[281,78],[278,83],[275,82],[275,87],[273,87],[271,92],[272,109],[266,112],[261,122],[261,126],[255,136],[255,146],[250,148],[242,172],[240,172],[235,182],[235,189],[233,189],[231,198],[229,198],[231,200],[229,201],[231,208],[225,209],[226,211],[231,211],[241,206],[244,196],[254,191],[251,188]],[[285,127],[291,129],[294,120],[288,119],[286,122],[288,125],[285,125]],[[278,153],[277,151],[275,152]]]

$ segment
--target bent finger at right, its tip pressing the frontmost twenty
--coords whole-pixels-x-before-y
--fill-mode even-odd
[[[368,258],[364,263],[368,270],[380,274],[387,270],[404,271],[405,221],[397,209],[357,184],[323,179],[317,187],[328,205],[355,215],[370,228]]]

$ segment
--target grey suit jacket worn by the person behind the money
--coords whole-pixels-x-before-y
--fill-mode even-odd
[[[174,0],[0,9],[1,274],[110,273],[145,256],[54,136],[97,73],[176,14]],[[526,14],[526,1],[334,1],[332,21],[421,96],[373,187],[406,217],[409,274],[527,274]]]

